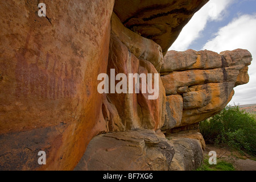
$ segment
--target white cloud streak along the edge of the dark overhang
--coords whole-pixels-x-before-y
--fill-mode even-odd
[[[207,22],[212,20],[221,20],[226,13],[226,7],[234,0],[211,0],[203,6],[188,22],[180,32],[179,37],[172,44],[169,50],[185,51],[189,45],[200,36]]]

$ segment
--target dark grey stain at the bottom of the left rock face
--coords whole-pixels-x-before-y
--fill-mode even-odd
[[[47,155],[50,154],[58,146],[59,133],[63,133],[66,127],[59,124],[20,133],[1,134],[0,170],[19,171],[24,166],[29,169],[40,168],[38,152],[43,150]],[[53,144],[50,146],[51,142]]]

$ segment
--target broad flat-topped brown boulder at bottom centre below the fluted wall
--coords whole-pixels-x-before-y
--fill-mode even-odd
[[[172,143],[152,130],[108,133],[90,141],[75,170],[166,171],[174,154]]]

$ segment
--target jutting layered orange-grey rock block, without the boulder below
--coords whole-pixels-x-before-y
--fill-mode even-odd
[[[249,81],[247,70],[251,60],[250,52],[243,49],[220,54],[191,49],[169,51],[164,57],[161,78],[167,98],[181,98],[167,106],[164,126],[168,125],[171,129],[192,125],[219,113],[232,99],[234,86]],[[183,107],[182,114],[180,106]],[[170,110],[175,114],[170,115]],[[174,115],[181,121],[168,119]]]

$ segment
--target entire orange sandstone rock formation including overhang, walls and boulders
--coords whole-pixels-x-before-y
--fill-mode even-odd
[[[249,81],[251,61],[242,49],[167,53],[207,2],[45,0],[39,17],[38,2],[1,1],[0,169],[196,169],[197,123]],[[153,74],[158,98],[142,84],[139,93],[98,93],[98,75],[111,69]]]

